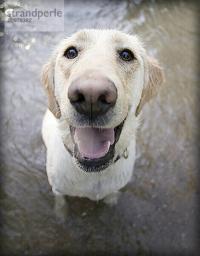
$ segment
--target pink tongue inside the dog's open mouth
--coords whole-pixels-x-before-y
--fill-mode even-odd
[[[114,143],[114,129],[76,128],[74,141],[84,157],[100,158]]]

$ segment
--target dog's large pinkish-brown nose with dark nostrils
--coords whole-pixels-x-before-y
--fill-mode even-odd
[[[94,120],[115,105],[117,88],[104,76],[80,76],[70,84],[68,98],[79,113]]]

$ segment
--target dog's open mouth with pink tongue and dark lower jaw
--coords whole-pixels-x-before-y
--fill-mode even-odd
[[[79,169],[84,172],[101,172],[114,163],[114,148],[124,121],[109,129],[69,126],[74,143],[74,160]]]

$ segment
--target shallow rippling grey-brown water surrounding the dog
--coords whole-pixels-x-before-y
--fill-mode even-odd
[[[0,38],[2,255],[197,255],[199,7],[67,1],[64,33]],[[62,221],[54,215],[45,170],[39,74],[60,38],[87,27],[140,34],[166,82],[143,108],[134,175],[117,206],[69,198],[70,216]]]

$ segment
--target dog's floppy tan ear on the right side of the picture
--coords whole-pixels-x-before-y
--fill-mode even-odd
[[[163,82],[163,68],[159,66],[157,60],[147,54],[143,57],[144,64],[144,84],[140,103],[137,106],[136,115],[140,113],[143,105],[159,93]]]

